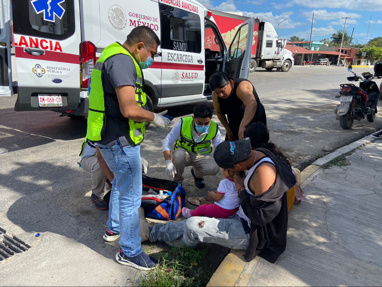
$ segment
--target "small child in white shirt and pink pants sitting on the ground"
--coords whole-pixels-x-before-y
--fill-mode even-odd
[[[209,197],[214,204],[201,204],[197,209],[192,210],[187,207],[182,208],[182,215],[186,218],[193,216],[208,216],[215,218],[228,218],[238,211],[240,199],[238,191],[233,181],[234,173],[229,170],[222,170],[224,179],[220,181],[217,191],[209,191]]]

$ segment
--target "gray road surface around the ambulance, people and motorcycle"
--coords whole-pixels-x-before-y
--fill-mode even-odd
[[[367,70],[354,68],[357,73]],[[334,97],[349,74],[340,67],[293,67],[287,73],[259,69],[250,74],[265,106],[271,140],[296,167],[302,169],[382,128],[380,114],[373,123],[354,122],[350,130],[343,130],[335,119],[333,108],[339,101]],[[51,111],[15,112],[15,101],[15,96],[0,98],[0,226],[33,247],[0,267],[1,282],[130,284],[136,273],[114,262],[117,243],[101,238],[107,211],[93,207],[89,174],[76,163],[86,120],[59,117]],[[192,109],[193,105],[173,107],[168,113],[179,121]],[[149,161],[149,176],[165,178],[162,140],[169,130],[154,126],[147,130],[141,154]],[[185,178],[186,195],[201,196],[216,189],[221,175],[207,176],[203,190],[193,185],[189,168]],[[38,238],[37,232],[41,233]]]

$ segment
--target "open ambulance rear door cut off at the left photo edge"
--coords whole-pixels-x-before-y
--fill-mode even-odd
[[[10,0],[1,0],[0,9],[0,96],[11,96],[11,13]]]

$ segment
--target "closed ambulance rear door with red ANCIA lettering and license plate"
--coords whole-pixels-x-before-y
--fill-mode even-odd
[[[16,111],[76,114],[80,103],[78,0],[12,0]]]

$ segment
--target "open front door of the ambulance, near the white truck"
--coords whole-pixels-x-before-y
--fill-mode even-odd
[[[254,20],[253,17],[241,24],[225,54],[223,70],[231,78],[248,79],[249,77]]]

